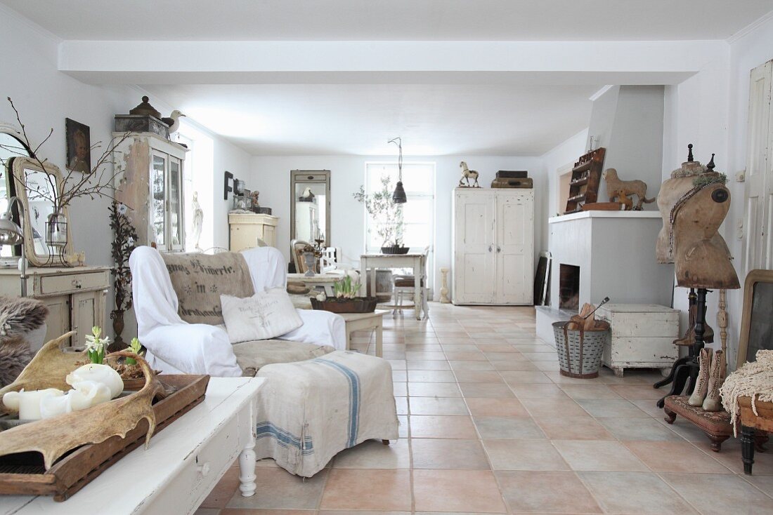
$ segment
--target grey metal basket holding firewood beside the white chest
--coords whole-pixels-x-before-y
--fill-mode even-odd
[[[611,330],[574,330],[566,328],[567,322],[555,322],[556,351],[561,375],[570,378],[598,378],[604,345],[611,337]]]

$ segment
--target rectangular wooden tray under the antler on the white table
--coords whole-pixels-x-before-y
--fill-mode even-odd
[[[203,401],[209,384],[209,375],[157,377],[174,391],[153,404],[154,435]],[[0,456],[0,494],[53,495],[55,501],[67,500],[107,467],[143,445],[147,433],[148,421],[143,418],[124,438],[113,436],[101,443],[79,447],[48,470],[44,469],[39,452]]]

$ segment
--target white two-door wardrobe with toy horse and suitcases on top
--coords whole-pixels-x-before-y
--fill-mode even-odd
[[[451,302],[533,304],[534,190],[455,188]]]

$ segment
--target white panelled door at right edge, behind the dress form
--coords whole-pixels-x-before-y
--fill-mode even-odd
[[[744,275],[753,269],[773,268],[773,61],[751,70],[744,213]]]

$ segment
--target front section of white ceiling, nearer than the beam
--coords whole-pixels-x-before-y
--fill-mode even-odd
[[[726,39],[771,0],[2,0],[62,39]]]

